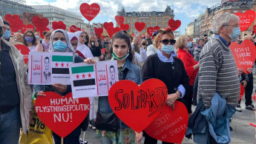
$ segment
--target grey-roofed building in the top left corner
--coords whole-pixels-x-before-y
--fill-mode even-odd
[[[6,14],[10,15],[19,15],[22,19],[22,13],[35,13],[35,9],[33,7],[24,5],[26,1],[21,0],[0,0],[0,12],[1,17],[4,18]]]

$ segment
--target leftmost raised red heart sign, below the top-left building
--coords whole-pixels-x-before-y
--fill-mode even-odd
[[[10,22],[10,28],[13,32],[18,32],[22,29],[23,21],[19,18],[19,15],[11,16],[10,14],[7,14],[4,16],[4,19]]]

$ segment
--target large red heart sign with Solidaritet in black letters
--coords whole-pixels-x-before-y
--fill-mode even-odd
[[[167,95],[165,83],[158,79],[146,80],[140,86],[131,80],[121,80],[111,87],[108,101],[122,122],[140,132],[160,114]]]

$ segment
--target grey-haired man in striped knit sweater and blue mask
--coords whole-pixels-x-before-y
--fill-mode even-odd
[[[239,17],[233,14],[223,13],[216,16],[212,24],[212,32],[214,32],[215,38],[211,38],[204,45],[200,54],[200,69],[198,72],[199,103],[203,102],[206,110],[210,109],[211,112],[217,112],[217,114],[226,109],[224,111],[226,116],[220,114],[221,117],[225,117],[222,121],[229,120],[232,117],[240,96],[240,81],[237,75],[241,75],[243,69],[237,69],[232,51],[229,48],[231,41],[237,41],[240,35],[239,22]],[[220,103],[221,100],[225,101],[225,104]],[[228,116],[226,112],[231,115]],[[218,120],[220,119],[216,120],[217,123],[219,123]],[[226,126],[227,123],[229,122],[225,122],[223,125],[219,123],[220,126],[223,126],[223,131],[229,131]],[[211,143],[220,143],[214,135],[211,135],[209,139]]]

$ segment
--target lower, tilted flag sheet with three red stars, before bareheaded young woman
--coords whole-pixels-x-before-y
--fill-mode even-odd
[[[70,80],[73,98],[97,95],[95,65],[73,64],[70,68]]]

